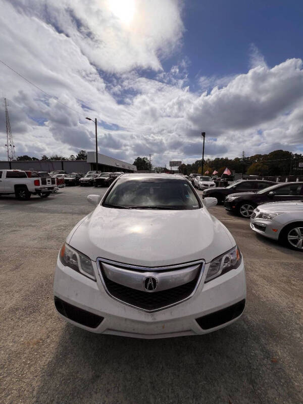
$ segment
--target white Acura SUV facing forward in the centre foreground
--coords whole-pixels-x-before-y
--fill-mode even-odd
[[[55,306],[96,333],[205,334],[237,320],[246,298],[230,232],[182,176],[125,174],[70,232],[57,261]]]

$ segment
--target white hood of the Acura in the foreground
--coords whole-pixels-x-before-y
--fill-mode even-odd
[[[206,208],[162,211],[103,206],[75,226],[67,243],[93,261],[100,257],[146,267],[210,262],[235,245],[226,227]]]

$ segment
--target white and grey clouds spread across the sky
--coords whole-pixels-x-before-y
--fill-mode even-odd
[[[200,93],[191,92],[188,58],[179,54],[180,63],[162,69],[164,58],[178,55],[179,3],[134,4],[130,22],[115,16],[105,0],[15,0],[15,6],[0,0],[1,59],[70,107],[0,65],[17,155],[92,149],[94,127],[86,116],[98,119],[100,153],[130,163],[149,153],[156,165],[194,161],[201,155],[201,131],[207,132],[209,157],[299,149],[301,60],[270,68],[251,47],[247,73],[200,77]],[[4,111],[0,137],[5,159]]]

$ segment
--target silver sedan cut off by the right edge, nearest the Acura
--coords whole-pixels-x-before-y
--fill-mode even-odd
[[[250,228],[290,248],[303,251],[303,201],[259,205],[250,217]]]

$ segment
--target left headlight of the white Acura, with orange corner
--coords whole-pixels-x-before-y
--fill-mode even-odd
[[[91,260],[81,252],[64,243],[59,253],[59,259],[63,265],[70,267],[77,272],[96,280]]]

